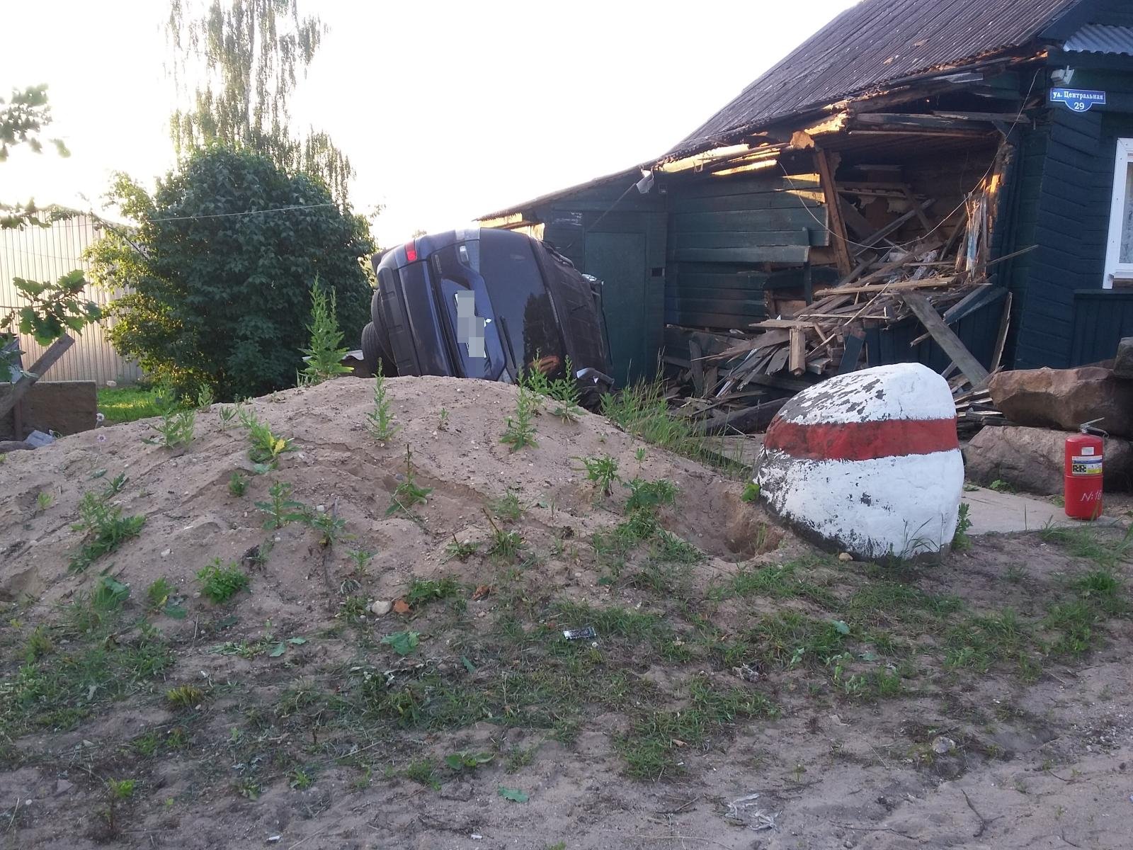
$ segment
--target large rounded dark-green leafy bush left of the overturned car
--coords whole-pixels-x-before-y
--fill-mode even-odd
[[[127,290],[109,307],[110,338],[145,371],[222,401],[293,385],[316,278],[359,338],[372,295],[359,258],[374,245],[318,179],[213,146],[152,196],[123,175],[111,196],[140,224],[91,247],[92,277]]]

